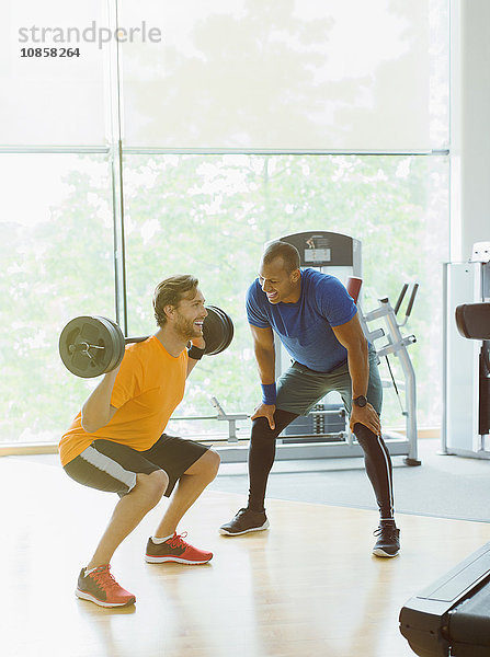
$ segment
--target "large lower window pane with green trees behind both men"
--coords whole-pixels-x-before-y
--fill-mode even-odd
[[[441,263],[448,254],[448,173],[444,157],[161,155],[125,161],[129,330],[155,330],[151,293],[172,274],[198,276],[208,303],[229,312],[236,337],[205,357],[190,379],[186,414],[209,414],[209,395],[251,412],[259,381],[244,292],[265,241],[328,230],[362,241],[364,310],[391,303],[403,283],[420,284],[406,333],[418,377],[421,426],[440,424]],[[402,379],[391,358],[396,379]],[[383,364],[383,377],[389,379]],[[384,422],[403,427],[392,389]],[[195,430],[195,427],[194,427]]]

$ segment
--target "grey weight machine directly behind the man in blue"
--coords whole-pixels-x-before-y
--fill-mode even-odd
[[[384,381],[384,387],[395,385],[397,394],[404,390],[404,410],[402,415],[406,419],[406,436],[396,434],[384,434],[383,438],[392,456],[406,456],[408,465],[420,465],[417,447],[417,390],[415,374],[407,347],[415,342],[413,335],[403,336],[401,327],[410,316],[415,300],[418,285],[412,288],[410,300],[406,310],[404,321],[399,323],[397,313],[400,310],[408,285],[403,286],[400,297],[391,307],[389,299],[379,300],[379,307],[364,314],[361,302],[357,299],[362,285],[362,258],[361,242],[341,233],[311,231],[300,232],[280,238],[296,246],[300,254],[301,267],[316,267],[339,278],[357,301],[358,316],[366,338],[377,342],[385,338],[383,346],[377,346],[378,356],[386,358],[395,356],[400,359],[404,376],[404,382],[397,382],[391,374],[391,381]],[[369,328],[374,321],[383,321],[384,328]],[[276,353],[276,378],[281,376],[288,362],[289,355],[275,335]],[[389,367],[389,361],[388,361]],[[389,367],[391,373],[391,369]],[[338,399],[331,399],[338,397]],[[400,401],[401,404],[401,401]],[[227,419],[227,414],[220,419]],[[233,418],[236,416],[229,416]],[[241,418],[240,418],[241,419]],[[320,459],[320,458],[344,458],[363,457],[364,452],[355,436],[349,430],[345,411],[340,396],[337,393],[327,395],[312,408],[308,415],[298,417],[280,435],[276,440],[276,459]],[[247,447],[232,446],[230,441],[226,447],[219,448],[223,461],[235,462],[247,459]]]

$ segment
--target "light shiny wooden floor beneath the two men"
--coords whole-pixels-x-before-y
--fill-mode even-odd
[[[104,610],[73,595],[115,497],[60,469],[0,459],[3,657],[413,657],[402,604],[490,540],[490,525],[399,516],[402,554],[371,555],[373,511],[270,500],[271,530],[217,528],[243,504],[205,493],[181,531],[205,566],[147,564],[163,500],[119,548],[113,572],[137,597]]]

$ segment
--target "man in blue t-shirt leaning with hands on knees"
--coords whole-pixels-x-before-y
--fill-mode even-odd
[[[376,351],[368,347],[344,286],[317,269],[301,270],[295,246],[272,242],[262,255],[259,278],[248,290],[247,316],[263,394],[252,415],[248,506],[223,525],[220,533],[239,535],[269,528],[264,500],[275,439],[298,415],[306,415],[337,390],[364,450],[379,507],[373,553],[396,556],[400,532],[394,518],[391,460],[381,438],[383,389]],[[294,359],[277,384],[273,331]]]

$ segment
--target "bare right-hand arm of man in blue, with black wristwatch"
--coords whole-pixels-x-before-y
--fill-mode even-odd
[[[352,399],[367,395],[369,381],[369,361],[367,357],[367,341],[361,327],[358,316],[355,314],[351,321],[340,326],[332,326],[332,331],[342,346],[347,350],[349,373],[352,379]],[[366,404],[364,408],[352,404],[350,427],[354,430],[355,423],[361,423],[376,436],[381,433],[381,423],[375,408]]]

